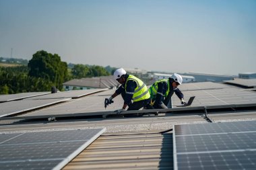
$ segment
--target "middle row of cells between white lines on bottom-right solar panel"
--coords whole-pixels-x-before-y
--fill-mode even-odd
[[[256,149],[256,132],[176,136],[177,153],[223,152]],[[256,150],[255,150],[256,151]]]

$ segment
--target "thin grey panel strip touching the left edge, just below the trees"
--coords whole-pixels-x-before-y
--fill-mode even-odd
[[[11,95],[0,95],[0,102],[6,102],[6,101],[13,101],[18,99],[25,99],[28,97],[34,97],[38,95],[46,95],[51,92],[30,92],[30,93],[18,93],[18,94],[11,94]]]

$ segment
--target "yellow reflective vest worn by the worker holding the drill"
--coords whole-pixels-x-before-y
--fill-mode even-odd
[[[135,81],[135,83],[137,85],[134,92],[126,91],[127,82],[130,80]],[[143,99],[150,98],[150,93],[148,92],[148,87],[143,83],[143,81],[141,81],[140,79],[138,79],[137,77],[135,77],[133,75],[129,75],[129,77],[127,78],[127,81],[125,83],[125,93],[133,94],[133,98],[132,98],[133,101],[141,101]]]

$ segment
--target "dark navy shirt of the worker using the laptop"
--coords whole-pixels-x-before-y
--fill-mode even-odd
[[[162,101],[164,101],[164,94],[166,93],[167,89],[168,89],[168,83],[166,82],[158,83],[158,93],[156,94],[155,102],[158,103],[159,105],[162,104]],[[181,92],[181,90],[178,88],[173,90],[172,81],[170,81],[169,93],[172,94],[173,92],[179,97],[179,99],[183,98],[183,93]]]

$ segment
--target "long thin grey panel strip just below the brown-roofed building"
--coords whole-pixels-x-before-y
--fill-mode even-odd
[[[72,91],[61,91],[58,93],[51,93],[48,95],[30,97],[30,99],[58,99],[58,98],[78,98],[83,97],[85,95],[90,95],[92,93],[96,93],[98,91],[104,91],[106,89],[86,89],[86,90],[72,90]]]

